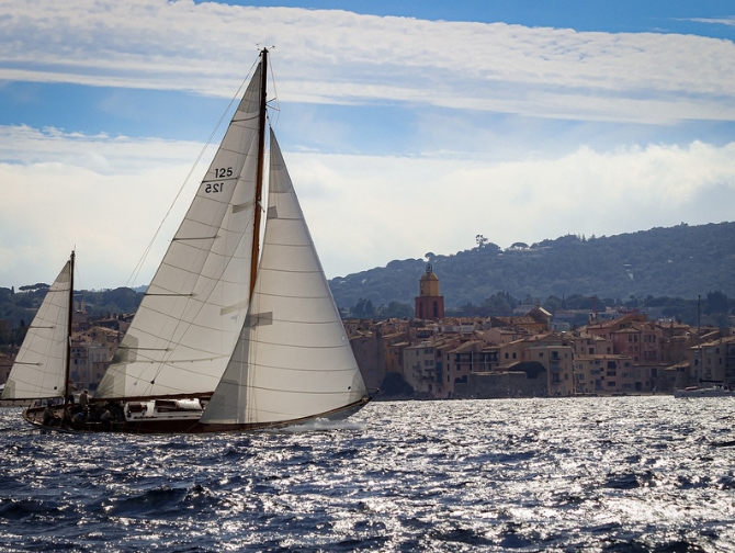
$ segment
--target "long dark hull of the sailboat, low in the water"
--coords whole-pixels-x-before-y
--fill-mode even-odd
[[[222,433],[222,432],[251,432],[272,428],[284,428],[299,425],[315,419],[341,420],[348,418],[362,409],[370,402],[370,397],[346,405],[339,409],[320,413],[309,417],[284,420],[278,422],[242,424],[242,425],[205,425],[197,419],[183,420],[113,420],[113,421],[65,421],[63,418],[64,406],[56,407],[58,417],[53,424],[44,425],[45,407],[31,407],[23,411],[23,418],[36,428],[55,430],[66,433],[133,433],[133,435],[197,435],[197,433]]]

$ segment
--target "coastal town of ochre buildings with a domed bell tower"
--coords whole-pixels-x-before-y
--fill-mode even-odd
[[[589,313],[568,328],[541,306],[512,316],[448,317],[430,264],[417,283],[414,318],[343,320],[363,379],[377,399],[568,397],[671,394],[735,385],[732,327],[691,327],[645,313]],[[132,314],[72,320],[70,379],[97,390]],[[14,352],[0,352],[0,384]]]

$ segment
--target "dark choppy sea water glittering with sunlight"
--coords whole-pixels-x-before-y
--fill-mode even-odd
[[[376,402],[220,436],[0,413],[4,551],[735,551],[735,399]]]

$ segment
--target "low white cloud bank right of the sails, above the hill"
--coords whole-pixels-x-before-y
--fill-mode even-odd
[[[315,168],[305,157],[286,155],[302,196],[318,179],[335,191],[303,200],[330,276],[468,249],[477,234],[508,247],[727,221],[735,205],[735,143],[509,163],[323,156]]]

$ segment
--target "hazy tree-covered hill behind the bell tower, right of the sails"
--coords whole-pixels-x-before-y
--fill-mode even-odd
[[[573,294],[697,298],[710,291],[735,295],[735,223],[681,224],[610,237],[563,236],[506,250],[484,244],[450,256],[391,261],[387,267],[336,278],[340,307],[360,298],[373,305],[414,304],[427,260],[441,280],[448,307],[480,305],[496,292],[523,300]]]

